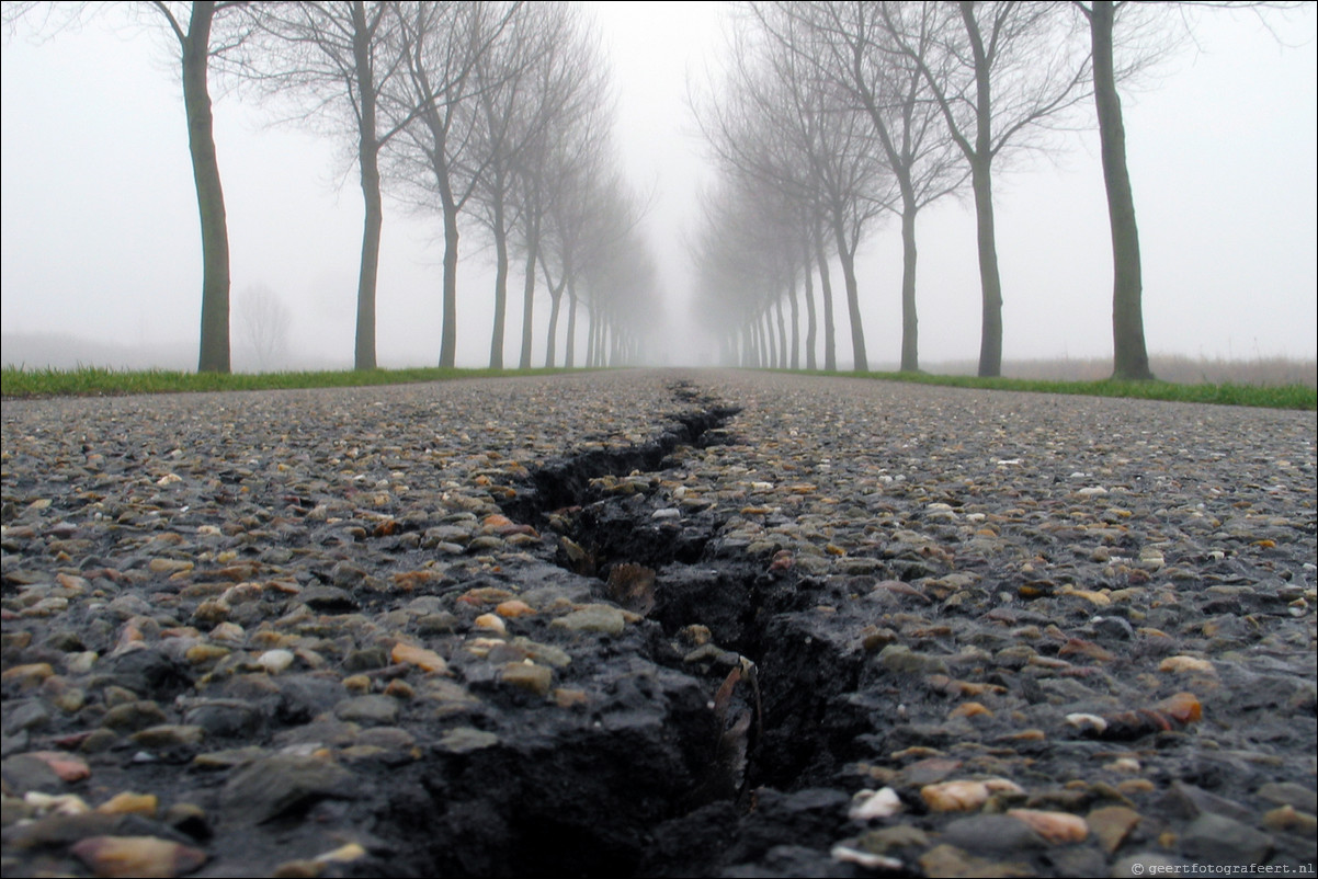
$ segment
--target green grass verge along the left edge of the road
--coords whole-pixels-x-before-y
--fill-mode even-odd
[[[272,390],[289,387],[356,387],[410,382],[503,376],[548,376],[564,369],[366,369],[303,373],[186,373],[116,370],[84,366],[75,370],[18,369],[0,373],[4,399],[30,397],[109,397],[120,394],[175,394],[215,390]]]

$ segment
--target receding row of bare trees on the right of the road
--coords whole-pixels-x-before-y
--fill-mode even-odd
[[[695,107],[720,169],[705,196],[696,258],[725,360],[797,366],[804,293],[812,368],[817,277],[824,368],[836,368],[829,274],[836,264],[851,358],[855,369],[867,369],[855,252],[895,216],[903,245],[900,362],[903,370],[919,369],[916,217],[969,188],[981,279],[979,374],[1000,374],[994,179],[1014,158],[1045,148],[1052,129],[1074,124],[1093,96],[1112,228],[1114,374],[1152,377],[1116,86],[1157,54],[1159,43],[1140,38],[1168,9],[1102,0],[780,0],[745,3],[739,12],[725,80]],[[1128,37],[1124,57],[1122,37]]]

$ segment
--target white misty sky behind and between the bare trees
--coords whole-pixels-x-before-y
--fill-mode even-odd
[[[722,50],[722,4],[590,3],[618,96],[617,140],[633,186],[652,194],[646,232],[662,266],[671,360],[709,353],[691,327],[684,236],[709,181],[685,104]],[[113,16],[111,16],[113,17]],[[1144,253],[1149,349],[1191,357],[1315,356],[1318,61],[1314,8],[1275,20],[1205,12],[1156,87],[1124,95]],[[3,331],[173,345],[195,364],[200,245],[178,74],[157,36],[94,21],[3,49]],[[340,145],[236,95],[216,100],[237,310],[253,286],[294,311],[294,353],[351,365],[361,195]],[[995,182],[1004,356],[1107,357],[1111,257],[1095,132]],[[382,365],[439,354],[440,227],[386,202],[380,283]],[[467,235],[459,364],[489,356],[492,271]],[[975,358],[979,289],[969,199],[921,215],[920,354]],[[900,344],[895,223],[863,246],[863,327],[874,366]],[[514,278],[513,287],[519,290]],[[518,294],[519,295],[519,294]],[[538,322],[548,312],[536,303]],[[840,358],[849,357],[838,300]],[[519,308],[509,315],[515,362]],[[536,362],[543,358],[536,324]],[[32,365],[32,364],[29,364]]]

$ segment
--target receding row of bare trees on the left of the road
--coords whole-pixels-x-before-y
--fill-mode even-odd
[[[136,3],[178,43],[202,227],[198,368],[229,372],[229,253],[211,116],[219,72],[278,112],[347,146],[364,211],[353,364],[373,369],[384,191],[443,228],[439,365],[457,348],[459,242],[477,229],[494,261],[490,365],[502,368],[509,278],[522,273],[519,366],[531,365],[538,278],[550,293],[547,364],[638,354],[655,273],[639,206],[619,178],[608,70],[580,9],[565,3]],[[82,5],[9,3],[5,20],[58,29]]]

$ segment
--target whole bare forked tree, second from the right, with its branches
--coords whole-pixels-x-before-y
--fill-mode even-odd
[[[1002,373],[1002,277],[994,228],[992,171],[1086,96],[1086,61],[1046,3],[938,4],[928,40],[880,4],[892,45],[925,79],[948,132],[970,167],[979,250],[979,374]]]

